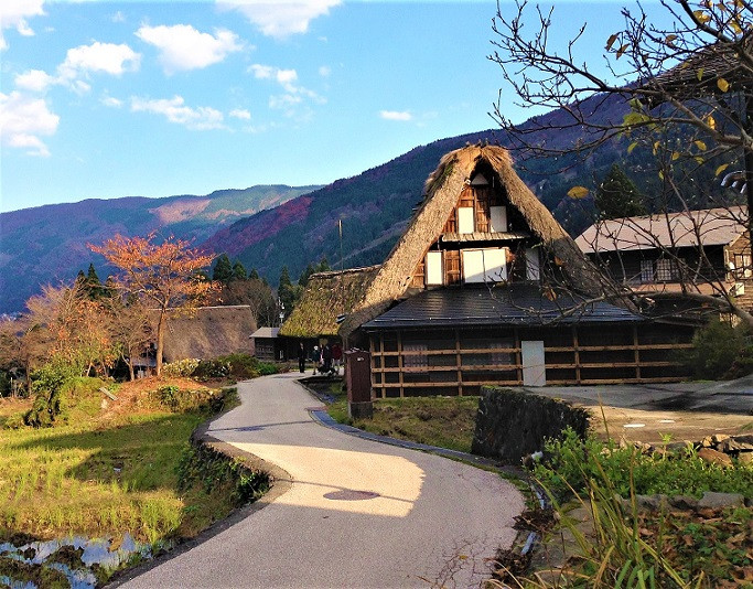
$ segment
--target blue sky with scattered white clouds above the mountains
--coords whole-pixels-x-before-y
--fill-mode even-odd
[[[553,42],[591,20],[583,55],[599,57],[620,6],[558,2]],[[495,12],[493,0],[2,0],[0,207],[323,184],[492,128]],[[535,114],[504,90],[513,119]]]

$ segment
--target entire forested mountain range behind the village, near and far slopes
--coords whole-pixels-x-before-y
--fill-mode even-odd
[[[592,120],[602,125],[618,125],[628,111],[617,97],[594,97],[583,105],[593,107]],[[582,129],[563,130],[566,124],[566,115],[555,110],[523,127],[530,129],[535,125],[539,129],[526,136],[529,142],[555,148],[580,144]],[[73,279],[89,261],[103,265],[104,260],[93,255],[86,244],[101,243],[116,233],[135,236],[158,229],[193,238],[196,245],[240,260],[249,270],[256,268],[277,285],[283,266],[293,279],[308,264],[318,264],[323,257],[333,268],[340,268],[337,222],[342,219],[343,266],[381,263],[421,201],[423,182],[444,153],[478,141],[510,147],[517,143],[515,139],[498,129],[441,139],[324,188],[255,186],[207,196],[90,200],[3,213],[0,312],[21,310],[25,299],[39,292],[41,283]],[[670,144],[682,138],[659,140]],[[631,141],[618,137],[583,157],[534,158],[514,150],[513,158],[523,180],[564,228],[577,235],[593,219],[593,200],[572,200],[568,191],[582,185],[593,192],[615,162],[646,195],[648,210],[658,207],[652,203],[663,186],[653,150],[639,147],[628,153]],[[681,193],[690,207],[701,208],[720,194],[722,189],[714,178],[719,163],[691,162],[695,168]]]

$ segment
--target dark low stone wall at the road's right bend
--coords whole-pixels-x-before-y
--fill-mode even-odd
[[[589,428],[589,411],[564,401],[509,388],[483,387],[478,400],[474,454],[519,464],[523,457],[544,449],[570,426],[581,437]]]

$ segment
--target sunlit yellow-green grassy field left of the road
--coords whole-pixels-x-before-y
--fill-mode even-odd
[[[235,506],[232,483],[207,490],[182,482],[178,470],[208,406],[222,406],[219,390],[146,379],[122,385],[111,400],[100,384],[85,379],[73,392],[67,425],[0,429],[0,542],[129,532],[155,543],[192,537]],[[28,409],[28,401],[0,403],[4,422],[18,424]]]

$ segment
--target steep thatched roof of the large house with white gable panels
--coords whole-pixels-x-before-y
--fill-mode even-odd
[[[384,312],[406,292],[413,269],[440,236],[465,183],[483,162],[498,176],[510,204],[526,217],[530,229],[561,260],[562,270],[573,288],[592,296],[601,296],[605,290],[612,290],[615,294],[618,292],[620,287],[602,276],[585,258],[547,207],[518,178],[506,150],[493,146],[470,146],[444,156],[427,180],[423,203],[381,265],[363,300],[343,322],[343,336]]]

